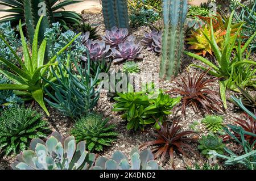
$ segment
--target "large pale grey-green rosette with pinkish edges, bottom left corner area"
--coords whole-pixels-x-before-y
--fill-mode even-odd
[[[53,132],[44,142],[33,139],[30,150],[24,150],[11,164],[14,170],[87,170],[96,155],[85,150],[85,141],[76,145],[75,137],[63,139],[58,132]]]

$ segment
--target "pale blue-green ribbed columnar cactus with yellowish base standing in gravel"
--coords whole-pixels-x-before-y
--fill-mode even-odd
[[[164,31],[160,78],[170,79],[179,71],[187,9],[188,0],[163,0]]]

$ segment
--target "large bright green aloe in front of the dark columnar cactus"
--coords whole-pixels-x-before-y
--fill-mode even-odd
[[[49,66],[56,65],[55,60],[57,56],[63,53],[64,50],[67,49],[80,34],[76,35],[63,49],[57,52],[57,54],[53,56],[46,65],[44,65],[44,55],[46,53],[47,41],[43,40],[42,44],[38,48],[38,34],[42,19],[43,16],[40,17],[35,29],[34,40],[32,43],[32,56],[28,51],[28,45],[22,31],[22,23],[21,21],[19,22],[19,32],[22,39],[24,60],[19,58],[18,54],[16,54],[16,52],[11,48],[3,36],[0,35],[0,39],[2,39],[7,47],[10,48],[11,52],[16,58],[17,63],[19,64],[16,66],[9,60],[6,60],[5,57],[0,57],[0,62],[8,66],[10,69],[10,71],[8,71],[0,68],[0,73],[4,74],[7,78],[14,82],[14,84],[0,85],[0,90],[18,90],[16,91],[16,95],[31,96],[36,102],[39,103],[39,105],[49,116],[49,112],[44,104],[44,84],[42,82],[42,77],[45,76]]]

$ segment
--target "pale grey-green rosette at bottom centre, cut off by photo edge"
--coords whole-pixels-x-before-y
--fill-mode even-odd
[[[163,170],[161,166],[154,161],[154,155],[150,149],[139,151],[135,148],[130,153],[129,159],[121,151],[115,151],[111,159],[99,157],[93,170]]]

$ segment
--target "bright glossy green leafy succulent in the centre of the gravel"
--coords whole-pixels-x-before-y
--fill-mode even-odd
[[[156,120],[162,124],[166,120],[166,117],[172,113],[172,108],[181,99],[181,97],[171,98],[170,95],[164,94],[162,90],[117,94],[118,96],[114,98],[117,103],[114,104],[112,111],[124,112],[122,118],[129,122],[127,129],[134,128],[135,131],[138,128],[143,130],[144,125],[148,124],[154,124],[156,129],[160,129]]]

